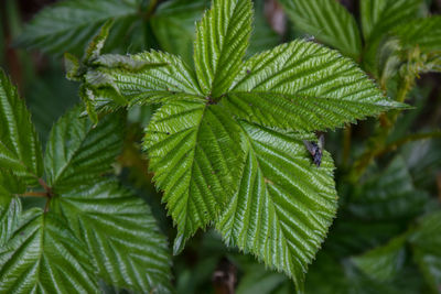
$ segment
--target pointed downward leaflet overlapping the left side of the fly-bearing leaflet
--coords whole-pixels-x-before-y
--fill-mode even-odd
[[[153,116],[143,146],[153,179],[178,225],[174,252],[214,220],[237,188],[239,127],[219,106],[175,101]]]

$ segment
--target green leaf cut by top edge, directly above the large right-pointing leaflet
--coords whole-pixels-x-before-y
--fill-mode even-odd
[[[281,0],[295,28],[319,41],[358,58],[362,47],[354,17],[336,0]]]

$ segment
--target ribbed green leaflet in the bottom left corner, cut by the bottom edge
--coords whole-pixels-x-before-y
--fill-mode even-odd
[[[98,293],[90,255],[52,213],[28,210],[0,247],[1,293]]]

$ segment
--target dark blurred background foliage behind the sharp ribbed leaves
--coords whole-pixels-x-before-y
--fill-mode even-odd
[[[359,1],[341,2],[359,18]],[[194,23],[208,6],[208,0],[2,0],[0,66],[25,97],[44,142],[54,121],[79,101],[78,85],[64,78],[64,52],[83,52],[112,18],[105,52],[162,50],[192,64]],[[248,55],[294,37],[313,39],[290,23],[277,1],[256,0],[255,9]],[[440,12],[439,0],[421,6],[423,14]],[[357,181],[349,175],[375,132],[375,119],[326,134],[326,149],[337,166],[340,208],[310,266],[306,293],[441,293],[441,75],[418,77],[407,99],[415,108],[398,117],[376,161]],[[390,78],[385,86],[394,91],[394,83]],[[153,110],[129,110],[125,149],[115,171],[152,206],[172,239],[175,231],[139,148]],[[283,274],[227,249],[212,230],[198,232],[173,264],[178,293],[228,293],[232,286],[241,294],[294,292]]]

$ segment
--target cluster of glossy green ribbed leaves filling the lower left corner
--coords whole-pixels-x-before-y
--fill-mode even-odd
[[[44,156],[30,115],[0,72],[0,292],[97,293],[99,283],[170,292],[170,255],[149,207],[115,178],[123,113],[95,128],[75,107]],[[43,190],[42,190],[43,189]],[[20,197],[45,207],[22,210]]]

